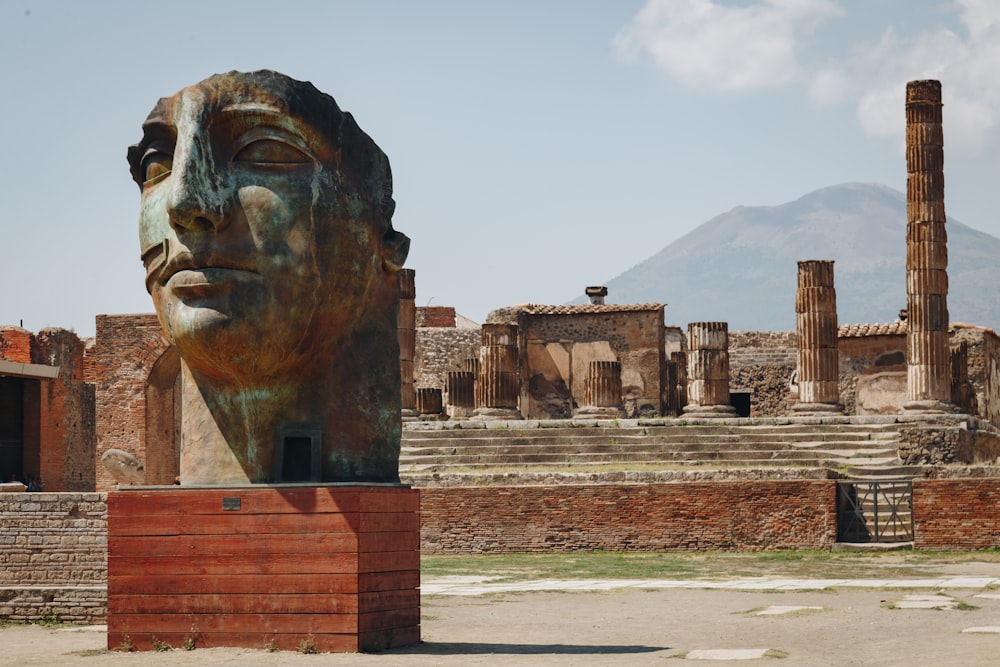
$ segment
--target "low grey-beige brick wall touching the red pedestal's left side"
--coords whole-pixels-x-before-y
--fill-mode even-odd
[[[0,528],[0,619],[105,618],[104,494],[0,494]]]

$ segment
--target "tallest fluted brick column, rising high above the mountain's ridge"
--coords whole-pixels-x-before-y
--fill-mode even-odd
[[[948,232],[944,214],[941,82],[906,84],[906,402],[950,412]]]

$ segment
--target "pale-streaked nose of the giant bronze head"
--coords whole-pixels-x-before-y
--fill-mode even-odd
[[[222,175],[212,145],[201,132],[178,137],[170,175],[167,214],[177,232],[208,232],[224,224]]]

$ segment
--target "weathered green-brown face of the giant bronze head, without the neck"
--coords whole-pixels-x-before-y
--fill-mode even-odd
[[[161,100],[130,153],[160,323],[193,369],[237,383],[334,345],[383,263],[370,207],[342,191],[339,128],[261,81],[221,75]]]

